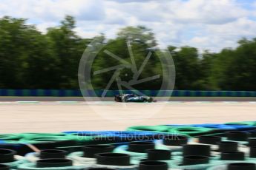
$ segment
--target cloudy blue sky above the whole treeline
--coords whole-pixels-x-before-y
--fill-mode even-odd
[[[0,0],[0,17],[29,18],[42,32],[67,14],[76,18],[82,37],[114,38],[119,28],[145,25],[162,48],[217,52],[256,37],[256,0]]]

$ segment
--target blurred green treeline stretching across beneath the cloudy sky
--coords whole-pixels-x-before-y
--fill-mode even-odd
[[[0,89],[78,89],[79,60],[90,38],[81,38],[74,31],[74,18],[66,16],[59,27],[50,27],[41,33],[23,18],[0,18]],[[152,51],[151,59],[140,78],[160,74],[157,41],[145,27],[125,27],[104,50],[128,60],[127,39],[131,40],[137,67]],[[110,42],[110,43],[109,43]],[[194,47],[169,46],[168,51],[176,68],[175,89],[197,90],[256,90],[256,38],[241,39],[236,49],[220,52],[199,52]],[[130,61],[129,61],[130,62]],[[93,70],[118,64],[104,52],[99,52]],[[114,72],[96,75],[93,86],[105,89]],[[131,70],[122,70],[122,81],[131,80]],[[160,80],[140,84],[134,88],[159,89]],[[110,87],[116,89],[116,85]]]

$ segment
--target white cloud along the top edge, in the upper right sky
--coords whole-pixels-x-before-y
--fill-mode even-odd
[[[233,0],[171,1],[171,16],[177,22],[225,24],[248,13]]]

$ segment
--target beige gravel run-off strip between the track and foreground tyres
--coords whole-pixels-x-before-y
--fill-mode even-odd
[[[125,130],[128,126],[138,125],[256,120],[256,101],[252,99],[209,102],[200,98],[200,101],[125,103],[127,112],[122,112],[123,103],[113,101],[56,99],[58,101],[1,101],[1,133]],[[157,107],[163,108],[149,116],[148,113]]]

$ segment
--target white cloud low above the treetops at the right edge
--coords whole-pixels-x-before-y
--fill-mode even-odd
[[[236,47],[240,38],[256,37],[256,22],[248,18],[239,18],[227,24],[208,25],[205,28],[206,33],[195,36],[184,44],[191,44],[201,49],[210,49],[212,51],[220,50],[224,47]]]

